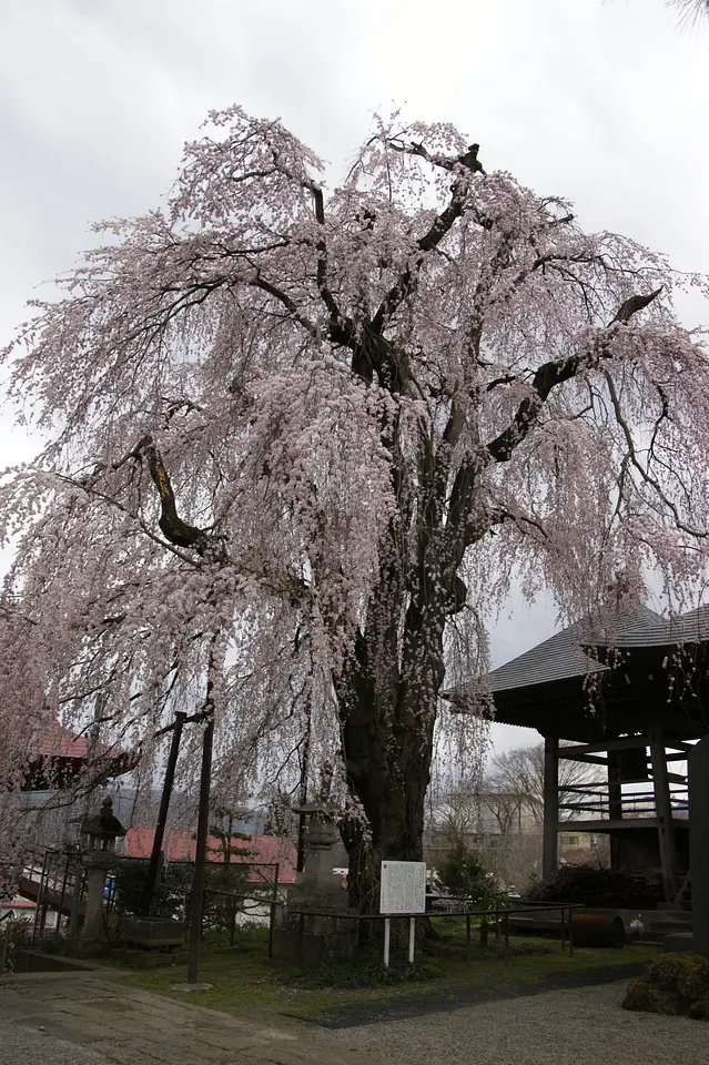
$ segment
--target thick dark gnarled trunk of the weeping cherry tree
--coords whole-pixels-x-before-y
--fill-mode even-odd
[[[423,858],[444,629],[466,592],[457,577],[464,540],[453,551],[444,523],[447,462],[437,463],[431,436],[422,430],[413,484],[398,434],[398,419],[383,426],[399,509],[381,545],[365,629],[337,686],[348,784],[367,819],[343,832],[350,901],[364,912],[378,911],[383,860]]]

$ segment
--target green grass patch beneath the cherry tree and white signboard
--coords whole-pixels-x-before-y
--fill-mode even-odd
[[[460,929],[462,925],[462,929]],[[196,1004],[234,1015],[255,1014],[264,1020],[285,1014],[300,1020],[326,1020],[330,1011],[361,1004],[376,1013],[383,1003],[414,997],[455,1001],[463,993],[505,994],[529,987],[559,973],[592,967],[644,964],[657,957],[657,947],[627,946],[620,950],[576,950],[561,953],[558,941],[490,936],[486,950],[475,943],[466,947],[465,922],[455,919],[437,924],[439,939],[427,941],[411,967],[403,956],[392,954],[385,970],[374,954],[328,962],[315,968],[287,965],[267,957],[264,930],[243,930],[234,949],[205,944],[200,978],[212,988],[200,994]],[[135,987],[171,995],[183,1002],[170,984],[184,980],[184,968],[171,967],[126,974]]]

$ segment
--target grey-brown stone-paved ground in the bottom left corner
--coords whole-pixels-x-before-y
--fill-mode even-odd
[[[334,1065],[342,1053],[312,1042],[311,1028],[267,1028],[193,998],[128,988],[105,972],[3,977],[0,1065]]]

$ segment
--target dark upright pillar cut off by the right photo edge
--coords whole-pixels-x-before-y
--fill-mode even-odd
[[[692,946],[709,956],[709,736],[689,754],[689,864]]]

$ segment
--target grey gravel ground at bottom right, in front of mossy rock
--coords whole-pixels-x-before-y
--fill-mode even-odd
[[[318,1028],[312,1038],[396,1065],[442,1059],[450,1065],[707,1065],[709,1024],[627,1013],[620,1008],[626,986],[551,991],[417,1020]]]

